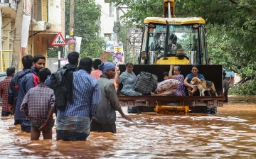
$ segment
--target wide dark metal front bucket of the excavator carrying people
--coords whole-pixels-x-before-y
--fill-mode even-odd
[[[191,73],[192,65],[178,65],[181,67],[181,75],[186,77]],[[125,65],[119,65],[120,72],[126,70]],[[170,65],[134,65],[133,72],[139,75],[140,72],[149,72],[158,77],[158,82],[164,80],[163,73],[169,72]],[[206,91],[205,97],[199,97],[199,92],[193,97],[188,96],[119,96],[119,102],[123,106],[137,106],[137,111],[152,112],[161,114],[187,114],[188,108],[190,112],[206,114],[215,114],[218,106],[223,106],[223,67],[222,65],[199,65],[199,73],[206,80],[214,83],[218,97],[210,97]],[[119,84],[117,92],[122,89]],[[172,106],[172,107],[170,107]],[[155,107],[155,109],[154,109]]]

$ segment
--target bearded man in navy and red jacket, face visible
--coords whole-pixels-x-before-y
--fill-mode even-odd
[[[35,55],[33,57],[33,66],[31,67],[31,72],[27,73],[21,78],[21,82],[18,84],[18,97],[16,103],[16,109],[14,114],[14,119],[21,122],[21,131],[31,132],[31,122],[28,118],[23,116],[21,113],[21,103],[23,97],[26,95],[29,89],[36,87],[39,84],[38,71],[44,68],[46,65],[46,57],[43,55]]]

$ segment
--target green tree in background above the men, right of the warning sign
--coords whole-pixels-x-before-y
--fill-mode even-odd
[[[65,0],[65,34],[69,35],[69,0]],[[105,48],[104,38],[101,38],[100,26],[100,5],[95,0],[75,1],[75,36],[82,37],[80,57],[100,57]]]

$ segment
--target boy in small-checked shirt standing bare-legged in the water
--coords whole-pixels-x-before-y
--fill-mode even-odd
[[[31,140],[38,140],[41,131],[43,131],[43,139],[52,139],[55,96],[53,89],[44,84],[50,74],[48,68],[39,70],[41,84],[29,89],[21,104],[21,113],[31,120]]]

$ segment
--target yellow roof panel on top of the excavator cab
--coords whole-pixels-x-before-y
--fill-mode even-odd
[[[161,17],[147,17],[144,19],[144,23],[161,23],[166,24],[166,20],[171,25],[182,25],[190,23],[205,24],[205,20],[201,17],[189,17],[189,18],[161,18]]]

